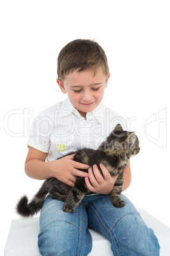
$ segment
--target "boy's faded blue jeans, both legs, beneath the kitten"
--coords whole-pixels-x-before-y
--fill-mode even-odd
[[[114,255],[159,255],[154,231],[143,222],[133,204],[115,208],[110,196],[85,196],[74,214],[62,210],[63,202],[47,197],[40,215],[38,239],[41,255],[88,255],[92,238],[88,227],[95,229],[111,243]]]

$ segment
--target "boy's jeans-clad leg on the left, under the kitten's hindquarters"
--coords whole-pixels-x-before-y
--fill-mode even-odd
[[[41,255],[88,255],[92,248],[88,215],[82,202],[74,214],[62,210],[63,202],[46,198],[40,215],[38,239]]]

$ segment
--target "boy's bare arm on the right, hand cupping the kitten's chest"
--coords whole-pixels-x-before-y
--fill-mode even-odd
[[[110,176],[107,168],[100,164],[101,171],[103,172],[103,176],[101,175],[98,167],[93,166],[93,170],[89,168],[89,178],[85,178],[86,186],[91,192],[99,193],[99,194],[110,194],[114,187],[115,181],[117,180],[117,176]],[[128,166],[124,169],[123,174],[124,182],[122,185],[122,191],[126,190],[131,183],[131,167],[130,161],[128,160]]]

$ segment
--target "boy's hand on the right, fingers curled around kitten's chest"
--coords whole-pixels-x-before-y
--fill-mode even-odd
[[[93,166],[93,170],[89,168],[89,177],[85,178],[86,186],[93,193],[108,195],[112,192],[117,176],[111,176],[107,168],[100,164],[101,175],[96,164]]]

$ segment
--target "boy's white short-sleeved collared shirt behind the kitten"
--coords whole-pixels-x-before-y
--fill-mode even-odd
[[[117,124],[126,128],[124,118],[103,104],[85,120],[67,98],[35,118],[27,145],[48,153],[46,160],[51,161],[79,148],[98,148]]]

